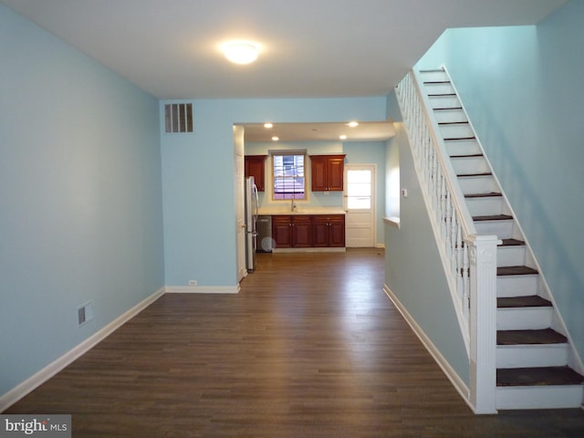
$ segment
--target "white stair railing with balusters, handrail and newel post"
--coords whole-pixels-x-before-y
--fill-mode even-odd
[[[476,235],[422,80],[413,70],[396,88],[418,180],[443,261],[469,356],[468,401],[476,413],[495,410],[495,235]]]

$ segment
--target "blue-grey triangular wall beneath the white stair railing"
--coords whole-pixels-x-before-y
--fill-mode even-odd
[[[389,116],[393,117],[393,113]],[[400,187],[408,190],[408,197],[401,198],[399,209],[391,207],[390,215],[399,214],[400,228],[385,225],[385,285],[468,385],[464,339],[423,202],[410,143],[402,123],[396,123],[395,128],[397,135],[388,142],[388,188],[395,183],[391,173],[398,172]],[[399,171],[395,169],[397,162]],[[392,196],[394,202],[395,197]]]

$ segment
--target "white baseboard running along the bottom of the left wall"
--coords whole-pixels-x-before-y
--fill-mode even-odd
[[[85,339],[76,347],[70,349],[63,356],[49,363],[45,368],[39,370],[36,372],[36,374],[26,379],[26,381],[23,381],[12,390],[0,396],[0,412],[4,412],[8,407],[16,403],[16,401],[19,401],[25,397],[26,394],[34,391],[37,387],[48,381],[51,377],[55,376],[57,372],[63,370],[74,360],[77,360],[80,356],[88,352],[89,349],[95,347],[100,341],[106,339],[116,329],[120,328],[120,326],[122,326],[124,323],[138,315],[144,308],[150,306],[151,303],[156,301],[159,297],[162,297],[163,294],[164,288],[162,287],[158,291],[154,292],[150,297],[142,300],[136,306],[121,314],[120,317],[111,321],[110,324],[91,335],[88,339]]]

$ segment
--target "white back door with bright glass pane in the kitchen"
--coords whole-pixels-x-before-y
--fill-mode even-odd
[[[375,246],[375,164],[345,165],[347,247]]]

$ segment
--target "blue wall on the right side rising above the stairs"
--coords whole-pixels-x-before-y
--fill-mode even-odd
[[[537,26],[450,29],[419,62],[449,69],[584,356],[584,2]]]

